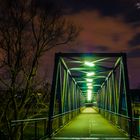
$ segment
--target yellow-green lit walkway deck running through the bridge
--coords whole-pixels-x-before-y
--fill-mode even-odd
[[[86,108],[52,139],[128,139],[93,108]]]

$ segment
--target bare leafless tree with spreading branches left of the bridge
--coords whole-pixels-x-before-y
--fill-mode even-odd
[[[33,88],[41,56],[78,33],[53,0],[0,0],[0,85],[6,90],[0,129],[5,127],[11,139],[20,138],[18,127],[10,129],[11,120],[31,118],[32,109],[46,107]]]

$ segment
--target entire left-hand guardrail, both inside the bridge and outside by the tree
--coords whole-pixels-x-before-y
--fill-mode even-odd
[[[60,127],[68,123],[72,118],[77,116],[80,108],[67,111],[61,114],[52,116],[52,131],[57,131]],[[18,137],[20,140],[39,140],[47,136],[47,118],[34,118],[24,120],[13,120],[10,122],[12,140],[17,139],[14,135],[15,131],[19,131]],[[11,139],[10,139],[11,140]]]

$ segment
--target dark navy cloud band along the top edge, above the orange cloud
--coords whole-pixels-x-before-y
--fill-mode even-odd
[[[140,9],[136,0],[62,0],[67,14],[82,10],[98,10],[103,16],[121,16],[127,22],[140,21]],[[66,10],[67,11],[67,10]]]

